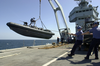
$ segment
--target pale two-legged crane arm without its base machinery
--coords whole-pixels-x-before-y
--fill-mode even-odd
[[[64,25],[66,26],[67,36],[69,37],[68,33],[70,33],[70,29],[67,26],[67,21],[66,21],[66,18],[65,18],[62,6],[59,4],[59,2],[57,0],[54,0],[55,3],[58,6],[57,8],[53,5],[52,0],[48,0],[48,1],[49,1],[50,5],[52,6],[53,10],[54,10],[55,17],[56,17],[56,22],[57,22],[57,26],[58,26],[58,30],[59,30],[60,36],[62,36],[62,32],[61,32],[61,29],[60,29],[60,26],[59,26],[59,20],[58,20],[58,15],[57,15],[57,11],[58,10],[61,12],[61,15],[62,15],[63,20],[64,20]]]

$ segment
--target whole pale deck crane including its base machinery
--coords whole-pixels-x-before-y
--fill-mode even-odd
[[[49,1],[50,5],[52,6],[53,10],[54,10],[54,14],[55,14],[55,17],[56,17],[56,22],[57,22],[57,26],[58,26],[60,37],[62,39],[64,39],[65,41],[67,41],[67,38],[70,37],[70,35],[68,33],[70,33],[71,31],[70,31],[70,29],[67,26],[67,21],[66,21],[64,12],[63,12],[63,8],[62,8],[62,6],[60,5],[60,3],[57,0],[54,0],[54,1],[55,1],[55,3],[57,4],[58,7],[54,6],[52,0],[48,0],[48,1]],[[63,18],[63,21],[64,21],[62,23],[66,27],[63,30],[62,30],[62,28],[60,28],[60,25],[59,25],[59,19],[58,19],[57,11],[61,12],[61,15],[62,15],[62,18]],[[64,40],[61,40],[61,41],[64,41]]]

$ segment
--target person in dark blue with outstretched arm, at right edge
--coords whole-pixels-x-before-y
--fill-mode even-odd
[[[93,33],[93,39],[92,39],[92,42],[90,44],[90,47],[89,47],[89,50],[88,50],[88,53],[87,53],[85,59],[89,59],[89,56],[90,56],[93,48],[94,48],[94,53],[95,53],[95,59],[99,59],[98,58],[98,46],[100,44],[100,27],[98,27],[98,25],[99,25],[98,22],[94,22],[93,28],[91,30],[89,30],[88,32],[83,33],[83,34]]]

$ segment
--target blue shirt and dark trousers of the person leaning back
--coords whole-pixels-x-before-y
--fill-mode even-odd
[[[76,40],[76,42],[75,42],[75,44],[74,44],[74,46],[73,46],[73,48],[72,48],[72,50],[71,50],[71,55],[74,55],[76,48],[79,47],[79,46],[82,44],[82,42],[83,42],[83,37],[84,37],[84,36],[82,35],[82,33],[83,33],[82,30],[81,30],[81,31],[78,31],[78,32],[76,33],[76,35],[77,35],[77,40]]]

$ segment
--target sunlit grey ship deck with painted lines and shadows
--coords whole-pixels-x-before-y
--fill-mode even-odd
[[[89,60],[84,60],[87,51],[76,50],[73,57],[68,57],[72,46],[73,44],[52,49],[23,47],[0,50],[0,66],[100,66],[100,59],[94,59],[94,54]]]

